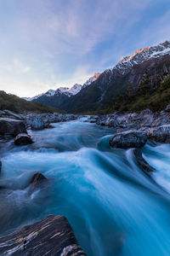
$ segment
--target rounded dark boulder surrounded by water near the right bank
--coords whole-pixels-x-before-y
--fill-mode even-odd
[[[112,148],[141,148],[147,142],[147,136],[141,131],[125,131],[111,137],[109,144]]]

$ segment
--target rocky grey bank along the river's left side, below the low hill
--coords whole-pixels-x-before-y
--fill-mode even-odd
[[[77,119],[74,114],[62,113],[14,113],[9,110],[0,111],[0,137],[14,138],[15,145],[33,143],[27,134],[29,130],[53,128],[51,123],[66,122]]]

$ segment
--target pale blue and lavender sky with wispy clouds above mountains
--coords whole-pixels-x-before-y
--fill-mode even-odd
[[[0,0],[0,90],[83,84],[122,56],[170,40],[170,0]]]

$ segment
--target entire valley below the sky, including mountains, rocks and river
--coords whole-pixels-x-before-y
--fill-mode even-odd
[[[0,255],[169,255],[169,152],[168,41],[71,89],[0,91]]]

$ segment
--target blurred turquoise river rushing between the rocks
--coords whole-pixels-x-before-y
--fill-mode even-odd
[[[132,149],[108,146],[113,130],[83,119],[32,132],[25,147],[1,143],[1,236],[48,214],[68,218],[89,256],[170,255],[170,145],[147,143],[144,158],[154,181],[133,159]],[[49,186],[27,194],[34,172]]]

